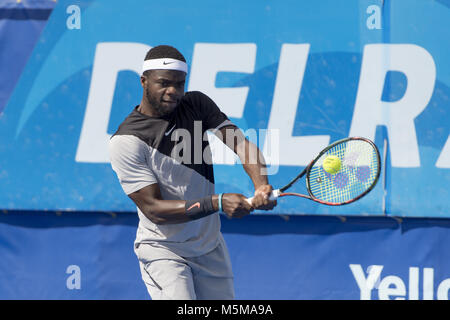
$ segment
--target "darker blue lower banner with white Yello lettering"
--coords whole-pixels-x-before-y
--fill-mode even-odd
[[[128,213],[0,214],[0,299],[149,299],[133,252],[137,223]],[[448,300],[449,227],[430,218],[222,218],[236,298],[255,300]]]

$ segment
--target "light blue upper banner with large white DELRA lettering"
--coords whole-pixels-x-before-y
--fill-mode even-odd
[[[134,211],[108,140],[140,102],[146,51],[171,44],[188,60],[186,90],[260,146],[275,187],[335,140],[378,145],[384,171],[367,197],[283,199],[276,213],[450,217],[449,30],[448,1],[58,1],[14,89],[0,89],[0,207]],[[211,139],[217,192],[252,195]]]

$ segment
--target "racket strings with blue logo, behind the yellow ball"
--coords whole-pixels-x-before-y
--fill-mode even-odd
[[[323,169],[326,157],[337,156],[341,169],[336,174]],[[311,195],[321,201],[344,203],[372,187],[377,179],[379,160],[376,150],[364,140],[349,140],[327,150],[311,167],[308,184]]]

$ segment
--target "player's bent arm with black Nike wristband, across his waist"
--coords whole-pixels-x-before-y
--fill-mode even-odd
[[[219,210],[218,195],[195,200],[163,200],[157,183],[128,195],[142,213],[155,224],[174,224],[197,220]],[[245,196],[227,193],[222,198],[223,211],[233,218],[250,213],[253,208]]]

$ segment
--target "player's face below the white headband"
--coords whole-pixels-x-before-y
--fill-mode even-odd
[[[160,116],[172,113],[184,95],[186,73],[177,70],[152,70],[142,86],[148,103]]]

